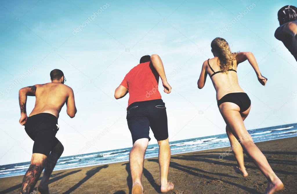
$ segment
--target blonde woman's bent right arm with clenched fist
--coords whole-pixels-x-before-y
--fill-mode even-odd
[[[261,72],[260,72],[260,69],[259,69],[259,66],[257,64],[257,61],[256,61],[256,58],[255,56],[253,55],[253,53],[251,52],[239,52],[237,53],[236,55],[236,61],[237,61],[237,65],[239,63],[242,63],[244,61],[248,60],[249,63],[251,64],[252,68],[254,69],[256,75],[257,75],[257,78],[258,78],[258,81],[265,86],[266,82],[267,82],[267,78],[262,76]]]

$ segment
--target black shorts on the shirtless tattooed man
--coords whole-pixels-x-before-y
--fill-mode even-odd
[[[50,151],[59,142],[56,138],[59,130],[57,124],[57,117],[49,113],[40,113],[27,118],[25,130],[34,141],[33,153],[50,155]]]

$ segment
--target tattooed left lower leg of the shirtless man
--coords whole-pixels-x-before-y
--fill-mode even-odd
[[[21,188],[21,194],[28,194],[33,190],[36,185],[37,180],[42,172],[42,166],[37,166],[36,164],[31,164],[28,171],[23,178],[23,185]]]

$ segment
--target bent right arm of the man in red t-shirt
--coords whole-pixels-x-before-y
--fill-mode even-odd
[[[161,58],[159,57],[159,55],[153,54],[151,55],[151,62],[162,80],[164,92],[169,94],[171,92],[171,86],[167,82]]]

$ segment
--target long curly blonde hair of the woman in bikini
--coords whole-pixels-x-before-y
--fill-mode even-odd
[[[215,38],[211,42],[211,50],[218,55],[218,64],[220,69],[227,73],[232,61],[236,58],[237,53],[232,53],[228,42],[220,37]]]

